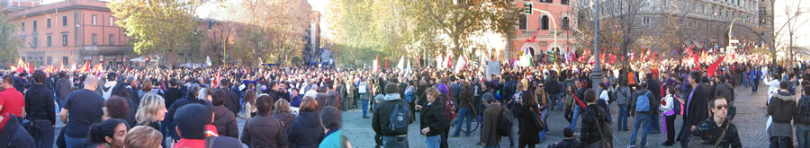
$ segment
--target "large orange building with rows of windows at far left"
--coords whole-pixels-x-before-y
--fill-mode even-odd
[[[26,1],[26,0],[22,0]],[[40,65],[123,64],[132,50],[107,2],[66,0],[10,13],[23,61]]]

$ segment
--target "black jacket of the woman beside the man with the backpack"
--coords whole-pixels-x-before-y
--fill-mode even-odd
[[[444,100],[435,100],[432,104],[428,105],[426,101],[422,105],[421,114],[419,114],[419,132],[425,127],[430,127],[430,132],[426,136],[441,135],[445,132],[450,124],[445,116],[445,102]]]

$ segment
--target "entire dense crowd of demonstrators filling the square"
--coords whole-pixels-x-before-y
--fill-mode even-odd
[[[708,65],[608,65],[600,81],[592,79],[590,66],[504,65],[497,74],[475,67],[3,71],[0,129],[10,130],[0,136],[13,138],[0,140],[20,147],[346,147],[340,114],[359,108],[383,147],[413,145],[412,123],[419,123],[426,147],[451,147],[449,138],[473,135],[472,122],[481,123],[474,136],[483,147],[605,147],[614,144],[614,133],[631,131],[628,118],[630,147],[657,147],[646,138],[662,132],[667,140],[661,145],[742,147],[730,122],[735,88],[756,93],[764,84],[770,87],[763,103],[771,147],[808,142],[810,81],[799,81],[810,80],[806,65],[772,71],[751,63],[716,71]],[[610,108],[617,108],[617,118]],[[570,125],[550,129],[550,116]],[[674,124],[678,116],[680,127]],[[237,118],[246,120],[241,131]],[[67,126],[56,131],[57,122]],[[550,130],[563,131],[565,139],[546,142]]]

